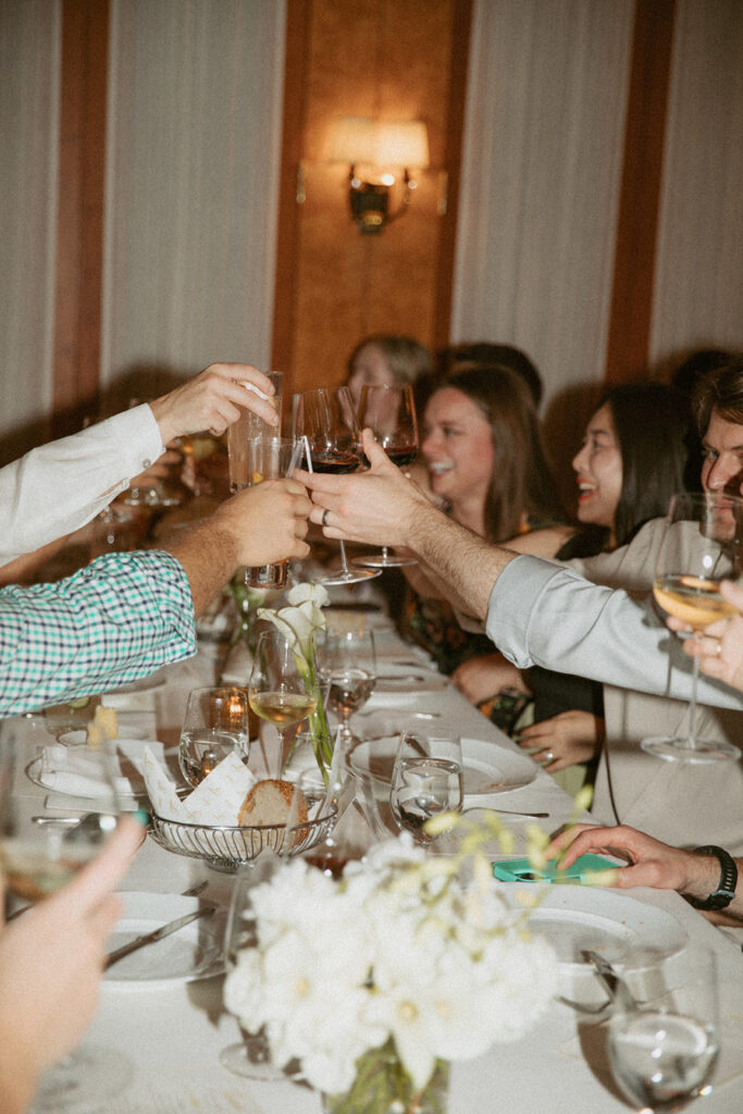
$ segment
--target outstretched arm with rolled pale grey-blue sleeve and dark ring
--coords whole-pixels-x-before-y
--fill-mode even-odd
[[[687,700],[691,670],[663,627],[624,592],[589,584],[559,565],[492,546],[452,522],[388,459],[364,431],[371,469],[353,476],[301,478],[312,489],[311,519],[329,537],[408,546],[444,582],[454,605],[487,616],[488,635],[519,668],[542,665],[607,684]],[[737,693],[700,681],[700,701],[740,710]]]

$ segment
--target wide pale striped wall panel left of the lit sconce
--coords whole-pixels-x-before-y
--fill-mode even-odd
[[[113,0],[104,382],[271,348],[284,0]]]

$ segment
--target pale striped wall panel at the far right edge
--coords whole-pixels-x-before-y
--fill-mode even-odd
[[[677,0],[651,344],[743,349],[741,0]]]

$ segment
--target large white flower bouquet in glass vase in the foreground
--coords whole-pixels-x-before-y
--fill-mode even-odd
[[[439,1114],[449,1061],[518,1039],[556,990],[553,950],[493,880],[483,844],[509,836],[497,815],[428,823],[463,828],[459,853],[403,834],[338,881],[297,858],[252,893],[255,942],[225,1005],[265,1026],[277,1065],[301,1061],[333,1114]]]

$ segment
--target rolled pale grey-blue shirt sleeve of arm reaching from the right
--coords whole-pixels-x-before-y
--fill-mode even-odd
[[[692,659],[648,607],[539,557],[517,557],[500,574],[487,632],[522,670],[541,665],[676,700],[691,695]],[[708,677],[700,676],[697,695],[743,709],[741,693]]]

